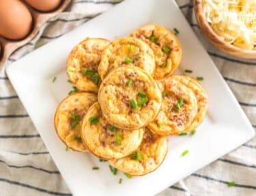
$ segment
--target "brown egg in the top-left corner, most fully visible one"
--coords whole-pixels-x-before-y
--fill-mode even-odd
[[[31,26],[32,16],[21,1],[0,1],[0,35],[8,39],[23,39]]]

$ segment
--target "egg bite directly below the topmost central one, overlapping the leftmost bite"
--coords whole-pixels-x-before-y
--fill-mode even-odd
[[[92,123],[89,118],[98,116]],[[102,159],[120,159],[136,150],[143,139],[143,129],[117,129],[106,121],[98,102],[91,105],[83,118],[81,135],[88,150]]]

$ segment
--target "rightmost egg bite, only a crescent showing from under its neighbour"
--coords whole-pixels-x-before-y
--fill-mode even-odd
[[[193,78],[190,78],[188,76],[171,76],[171,78],[190,88],[195,94],[195,97],[197,98],[197,114],[187,130],[191,131],[193,129],[196,129],[203,121],[203,118],[205,117],[205,114],[207,112],[208,95],[203,89],[203,86],[201,86],[201,84],[199,84],[199,82],[197,82]]]

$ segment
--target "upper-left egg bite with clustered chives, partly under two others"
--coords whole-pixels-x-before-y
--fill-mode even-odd
[[[106,39],[88,38],[74,46],[67,59],[67,73],[76,88],[98,93],[98,65],[102,50],[109,44],[109,40]]]

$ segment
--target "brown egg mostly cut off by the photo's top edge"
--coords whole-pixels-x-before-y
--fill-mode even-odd
[[[61,3],[61,0],[25,0],[35,10],[48,12],[55,10]]]

